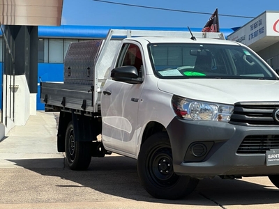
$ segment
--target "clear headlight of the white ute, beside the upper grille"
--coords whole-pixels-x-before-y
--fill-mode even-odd
[[[190,120],[229,122],[234,106],[172,97],[172,107],[177,116]]]

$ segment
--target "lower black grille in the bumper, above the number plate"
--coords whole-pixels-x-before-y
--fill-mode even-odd
[[[266,150],[279,149],[279,135],[253,135],[243,139],[236,153],[266,153]]]

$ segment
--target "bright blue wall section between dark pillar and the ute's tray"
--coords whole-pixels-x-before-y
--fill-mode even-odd
[[[44,110],[45,104],[40,102],[40,81],[42,82],[63,82],[63,63],[38,63],[38,94],[37,110]]]

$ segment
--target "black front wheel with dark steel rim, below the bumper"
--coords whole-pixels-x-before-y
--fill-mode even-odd
[[[147,139],[137,160],[137,172],[144,188],[158,199],[181,199],[195,189],[199,180],[174,173],[172,148],[167,133]]]

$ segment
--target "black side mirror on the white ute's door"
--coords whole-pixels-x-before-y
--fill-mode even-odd
[[[126,82],[129,84],[141,84],[143,82],[142,78],[139,77],[137,68],[132,65],[114,68],[110,77],[115,81]]]

